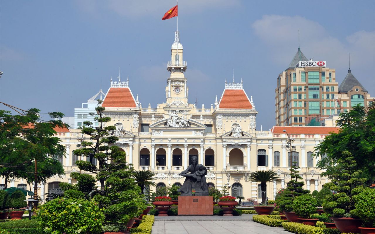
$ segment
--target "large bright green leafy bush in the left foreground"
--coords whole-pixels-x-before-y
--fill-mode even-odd
[[[104,214],[97,204],[87,200],[56,198],[37,213],[40,231],[53,234],[99,234]]]

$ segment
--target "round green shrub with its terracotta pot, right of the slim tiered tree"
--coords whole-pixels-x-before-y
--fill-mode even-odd
[[[317,200],[311,194],[304,194],[293,200],[293,210],[299,216],[298,222],[315,226],[318,219],[312,219],[311,215],[315,214]]]

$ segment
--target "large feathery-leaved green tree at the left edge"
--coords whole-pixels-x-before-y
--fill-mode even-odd
[[[65,146],[55,137],[55,128],[67,128],[61,120],[39,121],[38,109],[24,111],[25,114],[12,115],[0,110],[0,174],[7,183],[14,178],[34,182],[34,162],[37,161],[37,183],[58,175],[62,176],[62,165],[56,164],[53,156],[64,156]],[[54,118],[62,118],[60,112],[49,113]],[[45,171],[45,172],[42,172]]]

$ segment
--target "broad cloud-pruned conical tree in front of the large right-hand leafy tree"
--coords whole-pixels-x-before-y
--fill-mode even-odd
[[[323,209],[327,214],[335,217],[358,217],[354,206],[353,196],[363,191],[363,184],[366,178],[361,178],[361,170],[356,170],[357,162],[349,151],[342,152],[337,164],[332,165],[329,179],[332,182],[326,183],[324,188],[336,191],[337,194],[330,194],[324,198]]]

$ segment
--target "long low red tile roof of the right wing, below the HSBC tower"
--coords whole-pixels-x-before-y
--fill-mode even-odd
[[[285,134],[283,130],[287,130],[288,134],[330,134],[338,133],[340,128],[336,127],[295,127],[295,126],[273,126],[271,132],[273,134]]]

